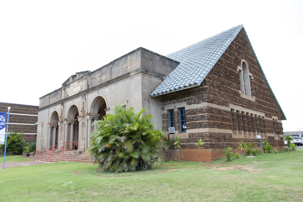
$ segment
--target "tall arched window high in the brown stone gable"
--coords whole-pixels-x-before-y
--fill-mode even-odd
[[[249,73],[248,66],[245,60],[241,61],[241,67],[238,66],[240,85],[241,85],[241,97],[250,99],[254,98],[251,96],[250,80],[253,79],[252,74]]]

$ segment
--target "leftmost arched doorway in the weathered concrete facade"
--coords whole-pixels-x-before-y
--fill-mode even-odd
[[[58,121],[59,121],[59,114],[57,111],[54,111],[51,115],[51,118],[49,120],[49,131],[50,134],[49,135],[49,140],[48,140],[48,147],[51,146],[55,146],[58,144],[58,140],[59,140],[59,130],[58,130]],[[56,146],[57,147],[57,146]],[[56,147],[53,147],[52,149],[55,149]]]

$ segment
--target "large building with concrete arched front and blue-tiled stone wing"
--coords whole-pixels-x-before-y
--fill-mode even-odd
[[[223,156],[238,142],[284,145],[286,120],[251,47],[243,25],[167,56],[138,48],[95,71],[72,75],[62,88],[40,98],[37,149],[79,141],[88,147],[94,120],[115,104],[154,116],[171,138],[181,138],[181,159]],[[168,134],[168,128],[175,132]],[[261,139],[257,138],[257,135]],[[178,156],[170,149],[167,157]]]

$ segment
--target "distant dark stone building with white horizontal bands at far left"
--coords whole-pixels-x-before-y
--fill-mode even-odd
[[[14,131],[23,133],[22,138],[25,142],[36,142],[37,138],[37,123],[39,106],[13,104],[0,102],[0,111],[7,112],[10,107],[8,120],[8,133]]]

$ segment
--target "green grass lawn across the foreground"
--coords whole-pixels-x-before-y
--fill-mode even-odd
[[[12,167],[0,171],[0,201],[303,201],[302,161],[297,150],[117,174],[85,163]]]

